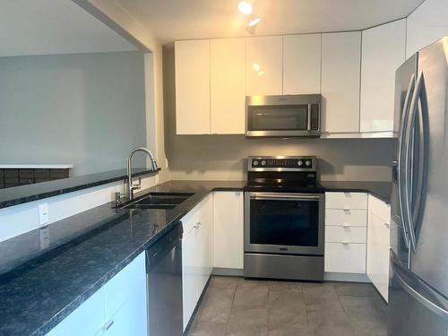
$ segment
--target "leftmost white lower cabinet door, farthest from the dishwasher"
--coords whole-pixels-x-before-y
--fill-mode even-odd
[[[95,335],[104,323],[104,291],[99,289],[48,332],[47,336]]]

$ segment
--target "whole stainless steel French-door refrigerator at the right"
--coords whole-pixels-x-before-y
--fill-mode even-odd
[[[389,336],[448,336],[448,37],[396,73]]]

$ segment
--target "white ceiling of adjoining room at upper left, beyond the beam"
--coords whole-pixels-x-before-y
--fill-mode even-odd
[[[0,56],[137,50],[71,0],[0,0]]]

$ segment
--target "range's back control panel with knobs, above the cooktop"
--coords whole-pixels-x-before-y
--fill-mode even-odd
[[[315,157],[249,157],[249,170],[314,171]]]

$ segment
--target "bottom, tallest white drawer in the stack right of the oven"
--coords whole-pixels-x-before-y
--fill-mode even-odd
[[[366,244],[325,243],[325,271],[366,273]]]

